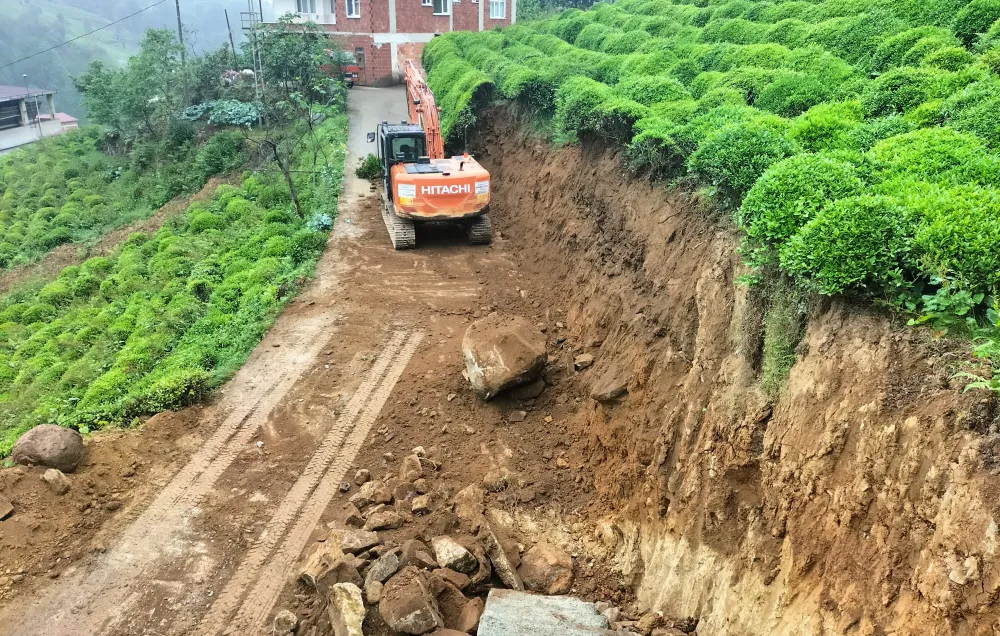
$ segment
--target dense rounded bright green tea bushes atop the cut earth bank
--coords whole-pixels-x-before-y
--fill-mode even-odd
[[[620,0],[450,33],[424,65],[450,138],[510,100],[557,141],[708,186],[758,274],[978,335],[998,316],[998,19],[998,0]]]

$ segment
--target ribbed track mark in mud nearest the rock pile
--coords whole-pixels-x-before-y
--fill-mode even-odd
[[[236,574],[230,578],[222,594],[202,619],[198,634],[215,636],[225,633],[243,636],[266,632],[266,619],[285,585],[289,571],[308,543],[323,511],[339,490],[344,474],[422,339],[423,333],[415,332],[401,350],[390,350],[387,347],[379,357],[376,367],[383,363],[383,356],[385,364],[378,373],[375,373],[376,368],[373,367],[372,375],[365,381],[366,385],[371,383],[367,394],[358,400],[356,408],[349,407],[337,419],[271,522],[261,533],[261,539],[246,555]],[[356,395],[361,393],[359,389]],[[352,406],[353,403],[354,400]],[[294,526],[286,535],[287,528],[293,521]],[[280,548],[272,556],[274,547],[283,537]],[[246,598],[242,599],[246,589],[255,582]],[[236,616],[230,621],[234,611],[237,612]]]

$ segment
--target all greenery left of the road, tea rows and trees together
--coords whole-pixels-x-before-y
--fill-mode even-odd
[[[297,62],[301,83],[269,84],[257,102],[224,56],[182,66],[174,34],[151,29],[122,67],[95,62],[76,78],[100,127],[0,157],[0,268],[252,168],[109,256],[0,296],[0,456],[37,424],[86,432],[202,398],[311,276],[347,128],[345,89],[321,70],[329,42],[315,30],[259,34],[268,63]]]

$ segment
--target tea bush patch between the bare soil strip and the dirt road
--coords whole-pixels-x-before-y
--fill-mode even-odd
[[[322,144],[328,168],[295,173],[317,215],[335,211],[346,124],[333,114],[309,142]],[[297,171],[312,166],[312,150],[300,149]],[[130,424],[199,400],[234,373],[327,238],[329,224],[314,229],[286,203],[260,205],[280,180],[248,176],[240,188],[220,187],[109,256],[0,296],[0,455],[36,424]]]

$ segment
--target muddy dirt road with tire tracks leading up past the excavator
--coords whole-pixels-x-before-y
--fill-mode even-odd
[[[452,378],[482,272],[514,280],[499,247],[470,247],[458,231],[391,249],[353,168],[370,151],[366,132],[406,117],[404,99],[400,89],[351,92],[349,174],[316,280],[213,405],[147,426],[183,427],[189,459],[136,492],[120,530],[105,529],[106,551],[0,610],[0,633],[269,632],[296,559],[394,387],[409,379],[420,393],[422,379],[444,376],[444,360]]]

